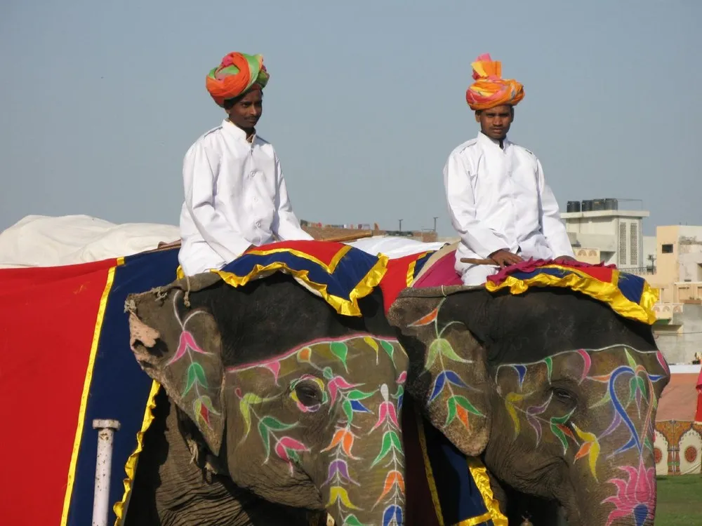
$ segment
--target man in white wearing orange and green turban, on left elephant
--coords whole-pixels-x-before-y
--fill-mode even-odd
[[[268,77],[260,55],[230,53],[206,78],[228,118],[199,137],[183,161],[178,259],[188,276],[276,239],[312,239],[293,213],[272,145],[256,135]]]

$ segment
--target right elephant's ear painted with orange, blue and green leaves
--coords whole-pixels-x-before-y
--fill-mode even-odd
[[[424,401],[426,416],[453,445],[476,456],[490,436],[490,382],[486,351],[465,323],[473,294],[455,294],[466,290],[406,289],[388,320],[410,357],[407,390]]]

